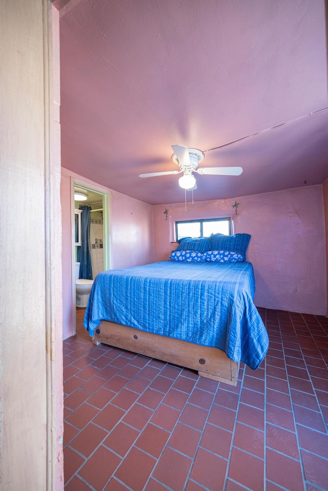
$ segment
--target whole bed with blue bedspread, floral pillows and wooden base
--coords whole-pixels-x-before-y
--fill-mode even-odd
[[[179,244],[169,261],[99,273],[84,326],[96,344],[236,385],[240,361],[256,370],[269,344],[253,302],[253,266],[245,254],[224,260],[232,255],[225,250],[215,260],[213,244],[202,244],[204,252],[186,247],[196,246]],[[203,259],[206,253],[212,260]]]

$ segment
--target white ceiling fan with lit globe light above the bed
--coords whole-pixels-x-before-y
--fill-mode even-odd
[[[139,177],[167,176],[169,174],[181,174],[179,186],[183,189],[197,189],[196,179],[193,172],[198,174],[208,174],[216,176],[239,176],[242,173],[242,167],[200,167],[198,164],[203,160],[204,154],[196,148],[187,148],[183,145],[172,145],[174,154],[171,159],[177,164],[180,170],[166,170],[164,172],[151,172],[149,174],[139,174]]]

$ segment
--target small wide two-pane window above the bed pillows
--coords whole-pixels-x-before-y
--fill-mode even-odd
[[[175,222],[176,240],[183,237],[209,237],[211,233],[231,233],[230,218],[210,218],[207,220],[189,220]]]

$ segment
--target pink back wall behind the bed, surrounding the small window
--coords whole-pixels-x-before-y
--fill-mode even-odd
[[[238,215],[232,208],[235,199],[187,203],[187,215],[185,203],[154,206],[154,261],[168,259],[175,249],[177,244],[170,243],[174,221],[231,216],[234,233],[247,232],[252,236],[247,259],[254,265],[255,304],[269,309],[325,315],[322,186],[236,199]],[[169,209],[167,221],[163,213],[166,208]]]

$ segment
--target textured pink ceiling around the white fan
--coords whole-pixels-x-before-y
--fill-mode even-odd
[[[328,177],[324,0],[71,0],[60,14],[64,167],[182,202],[180,176],[138,175],[177,169],[173,144],[204,152],[259,133],[205,152],[202,167],[243,173],[196,174],[195,201]]]

